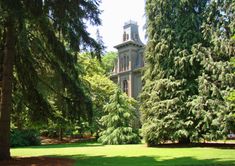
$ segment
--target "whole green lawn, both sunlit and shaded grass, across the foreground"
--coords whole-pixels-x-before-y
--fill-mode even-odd
[[[229,166],[235,149],[147,148],[139,145],[63,144],[11,149],[12,156],[68,157],[76,166]]]

